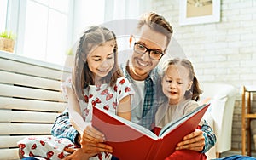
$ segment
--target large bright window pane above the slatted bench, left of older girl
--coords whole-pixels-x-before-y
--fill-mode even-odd
[[[34,59],[63,64],[71,43],[68,40],[71,6],[70,0],[26,0],[24,41],[21,41],[24,43],[18,50]]]

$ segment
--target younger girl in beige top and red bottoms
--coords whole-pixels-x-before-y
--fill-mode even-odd
[[[201,89],[195,77],[193,66],[189,60],[173,59],[166,62],[163,77],[161,80],[162,93],[166,95],[167,100],[162,103],[156,112],[154,129],[156,134],[159,134],[160,129],[167,123],[175,121],[178,117],[193,111],[199,105],[199,95]],[[203,121],[199,123],[199,126]],[[201,129],[199,127],[199,129]],[[174,152],[169,159],[191,159],[197,155],[198,158],[204,159],[205,156],[197,151],[179,151]],[[185,157],[188,156],[188,157]],[[190,157],[190,158],[189,158]]]

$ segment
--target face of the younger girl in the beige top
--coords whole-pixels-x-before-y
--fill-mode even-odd
[[[187,68],[179,64],[169,66],[162,79],[162,90],[168,97],[169,104],[177,105],[183,100],[185,92],[191,88],[192,83]]]

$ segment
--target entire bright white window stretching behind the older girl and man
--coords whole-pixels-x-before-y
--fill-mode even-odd
[[[86,26],[135,18],[148,9],[142,1],[0,0],[0,31],[15,33],[15,54],[63,65]]]

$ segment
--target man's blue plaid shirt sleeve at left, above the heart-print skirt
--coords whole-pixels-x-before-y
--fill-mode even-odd
[[[79,132],[70,123],[67,109],[56,117],[55,123],[51,128],[51,134],[58,138],[67,138],[79,145],[79,140],[77,140],[79,139]]]

